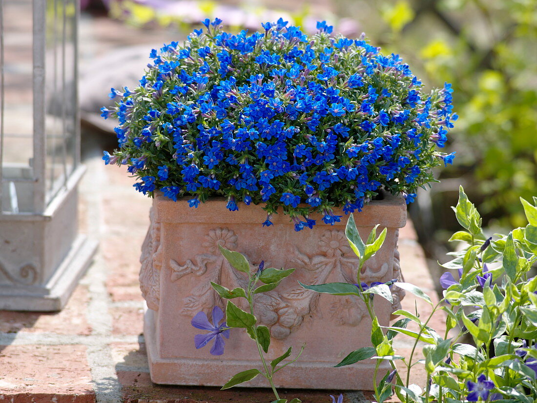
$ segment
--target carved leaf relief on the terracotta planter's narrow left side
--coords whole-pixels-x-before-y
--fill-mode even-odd
[[[149,230],[142,244],[140,256],[140,290],[147,307],[158,311],[160,301],[160,272],[162,268],[161,223],[155,217],[155,210],[149,211]]]

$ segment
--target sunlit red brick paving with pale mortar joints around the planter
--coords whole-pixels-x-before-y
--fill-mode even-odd
[[[134,40],[132,28],[119,27],[107,19],[101,20],[103,29],[89,35],[84,34],[84,23],[82,28],[86,40],[81,47],[82,62],[84,57],[124,45],[126,39],[130,43],[158,43],[163,36],[138,32],[140,40]],[[124,40],[117,39],[119,30]],[[265,389],[219,391],[151,383],[142,334],[144,301],[138,281],[140,247],[149,225],[151,200],[134,191],[125,167],[104,166],[101,150],[109,144],[110,138],[95,133],[86,133],[83,138],[88,172],[80,186],[81,230],[97,239],[100,248],[67,306],[58,313],[0,311],[0,403],[271,401],[271,392]],[[401,231],[399,245],[405,279],[434,297],[411,223]],[[413,311],[415,303],[426,315],[428,306],[411,295],[403,300],[403,307]],[[441,331],[442,318],[431,325]],[[410,342],[399,341],[397,347],[398,353],[410,354]],[[423,385],[425,375],[415,368],[412,382]],[[321,403],[330,401],[328,394],[340,392],[294,390],[283,395]],[[371,398],[369,392],[345,395],[345,403]]]

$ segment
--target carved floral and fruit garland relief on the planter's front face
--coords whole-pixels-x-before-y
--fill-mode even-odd
[[[199,311],[210,312],[214,305],[223,308],[224,303],[211,287],[211,281],[229,289],[245,287],[247,284],[245,276],[232,269],[223,258],[218,250],[218,244],[229,250],[236,250],[237,235],[228,228],[212,229],[202,244],[207,253],[195,255],[184,264],[170,260],[171,281],[177,281],[186,275],[204,277],[190,295],[184,298],[181,313],[194,316]],[[289,261],[290,267],[297,268],[291,276],[293,281],[280,284],[277,290],[256,295],[254,313],[260,323],[269,327],[271,335],[277,339],[285,339],[300,327],[304,320],[321,314],[317,309],[320,294],[304,290],[296,280],[307,284],[355,282],[354,270],[357,267],[357,259],[343,231],[326,230],[319,240],[315,253],[303,253],[298,247],[294,248],[293,258]],[[252,271],[257,269],[257,263],[256,265],[250,263]],[[366,265],[362,269],[361,279],[365,282],[380,281],[388,269],[388,263],[383,263],[380,267]],[[398,302],[400,296],[394,295],[394,306],[397,305],[395,299]],[[241,307],[246,309],[247,306]],[[357,326],[366,314],[365,306],[354,296],[338,297],[328,309],[330,316],[338,325]]]

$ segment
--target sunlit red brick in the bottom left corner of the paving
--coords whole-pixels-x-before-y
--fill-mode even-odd
[[[86,348],[79,345],[4,346],[0,353],[0,395],[25,393],[93,397]]]

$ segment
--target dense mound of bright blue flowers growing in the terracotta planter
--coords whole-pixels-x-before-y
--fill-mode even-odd
[[[279,210],[299,231],[383,189],[411,202],[453,162],[439,151],[456,120],[450,84],[426,93],[401,57],[324,21],[310,36],[281,19],[251,34],[220,24],[151,50],[140,85],[112,89],[115,107],[101,109],[119,119],[103,159],[127,165],[143,194],[261,204],[264,225]]]

